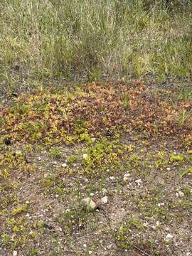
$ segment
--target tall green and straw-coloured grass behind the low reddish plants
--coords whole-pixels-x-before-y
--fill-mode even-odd
[[[0,84],[192,73],[191,1],[1,0]]]

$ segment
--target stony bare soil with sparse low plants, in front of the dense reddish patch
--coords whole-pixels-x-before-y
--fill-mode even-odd
[[[85,171],[84,151],[104,137],[115,139],[102,134],[92,144],[51,145],[61,156],[45,145],[26,153],[26,142],[1,144],[0,255],[192,255],[190,149],[178,146],[176,135],[151,140],[122,132],[119,161],[106,162],[107,151]],[[87,212],[80,202],[91,193],[99,207]]]

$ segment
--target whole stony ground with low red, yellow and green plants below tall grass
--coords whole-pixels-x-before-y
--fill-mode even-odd
[[[190,255],[191,111],[190,87],[156,80],[12,95],[0,255]]]

